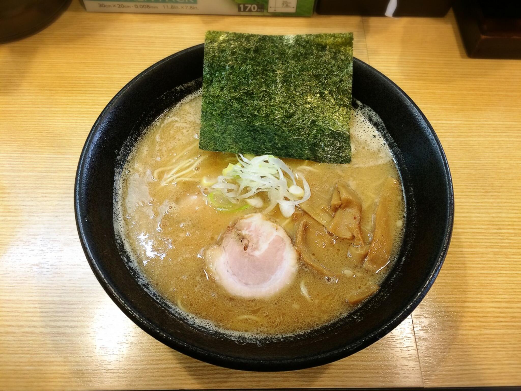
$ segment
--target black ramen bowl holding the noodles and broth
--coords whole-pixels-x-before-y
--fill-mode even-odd
[[[203,45],[167,57],[129,82],[96,120],[78,164],[75,210],[83,250],[119,308],[144,331],[186,355],[228,368],[285,371],[326,364],[373,344],[427,294],[448,250],[454,215],[452,180],[425,116],[391,80],[354,60],[353,96],[385,124],[406,197],[403,245],[380,290],[354,312],[297,337],[234,340],[185,322],[138,282],[113,225],[115,173],[154,119],[201,85]],[[194,81],[188,88],[180,86]],[[190,87],[191,86],[191,87]],[[303,314],[305,316],[305,314]]]

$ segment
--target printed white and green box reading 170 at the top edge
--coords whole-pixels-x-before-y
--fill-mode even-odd
[[[93,12],[312,16],[315,0],[83,0]]]

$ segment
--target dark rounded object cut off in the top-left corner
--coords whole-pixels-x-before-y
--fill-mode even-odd
[[[2,0],[0,43],[34,34],[50,25],[71,0]]]

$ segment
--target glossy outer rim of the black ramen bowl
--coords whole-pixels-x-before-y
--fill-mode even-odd
[[[430,287],[434,283],[434,280],[438,276],[441,266],[445,260],[446,254],[448,252],[450,240],[452,237],[453,225],[454,225],[454,190],[453,190],[453,182],[452,176],[449,168],[449,163],[446,159],[445,152],[443,147],[436,135],[436,132],[430,125],[429,121],[425,117],[425,115],[420,111],[419,107],[414,103],[414,101],[400,88],[396,85],[392,80],[390,80],[387,76],[383,75],[377,69],[371,67],[366,64],[362,60],[359,60],[353,57],[353,62],[357,63],[358,66],[365,67],[371,72],[374,72],[375,76],[383,79],[384,82],[389,83],[391,87],[393,87],[402,97],[412,106],[412,108],[420,115],[421,120],[424,121],[426,127],[430,133],[429,136],[432,136],[433,140],[436,142],[436,146],[439,149],[439,153],[442,159],[444,175],[446,177],[446,196],[448,198],[448,215],[445,222],[444,227],[444,239],[442,245],[439,247],[438,252],[436,254],[436,262],[433,264],[428,277],[425,279],[424,284],[421,286],[421,289],[418,291],[417,295],[391,320],[384,323],[383,326],[379,327],[376,331],[371,334],[366,335],[365,337],[358,340],[355,344],[350,344],[347,346],[342,346],[334,350],[329,350],[322,353],[317,353],[312,356],[305,356],[299,358],[291,358],[291,359],[276,359],[272,361],[265,360],[255,360],[255,359],[245,359],[240,357],[232,357],[228,355],[221,355],[220,353],[206,351],[200,349],[198,347],[192,346],[188,343],[185,343],[183,340],[178,339],[175,336],[164,333],[161,331],[154,323],[147,320],[145,317],[141,316],[134,308],[131,306],[130,302],[127,302],[125,299],[121,297],[118,292],[117,287],[113,286],[113,284],[105,278],[104,272],[102,271],[100,264],[98,264],[95,256],[93,256],[93,252],[91,249],[91,243],[85,234],[84,222],[81,219],[81,210],[80,210],[80,189],[83,186],[82,174],[85,169],[85,162],[88,158],[88,152],[91,149],[91,145],[94,142],[96,132],[98,131],[98,126],[105,118],[107,113],[113,108],[114,104],[118,101],[121,95],[125,94],[131,86],[144,77],[148,72],[157,68],[158,66],[164,64],[165,62],[169,62],[171,59],[183,56],[186,53],[190,53],[195,50],[199,50],[204,47],[204,44],[194,45],[188,48],[185,48],[182,51],[171,54],[158,62],[154,63],[150,67],[146,68],[140,74],[135,76],[132,80],[130,80],[118,93],[109,101],[109,103],[105,106],[101,114],[97,117],[94,122],[88,137],[83,145],[78,166],[75,177],[75,188],[74,188],[74,206],[75,206],[75,219],[76,226],[78,229],[78,235],[80,237],[81,246],[85,253],[85,256],[91,266],[91,269],[96,276],[98,282],[103,287],[105,292],[107,292],[108,296],[117,304],[117,306],[128,316],[130,319],[137,324],[143,331],[150,334],[163,344],[173,348],[184,355],[190,356],[192,358],[210,363],[219,366],[224,366],[230,369],[239,369],[239,370],[254,370],[254,371],[287,371],[287,370],[297,370],[297,369],[305,369],[311,368],[313,366],[327,364],[333,361],[337,361],[346,356],[349,356],[353,353],[356,353],[367,346],[375,343],[377,340],[387,335],[390,331],[392,331],[395,327],[397,327],[411,312],[418,306],[420,301],[425,297]]]

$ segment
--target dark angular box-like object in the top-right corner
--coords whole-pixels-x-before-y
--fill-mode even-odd
[[[521,58],[519,2],[456,0],[453,9],[469,57]]]

